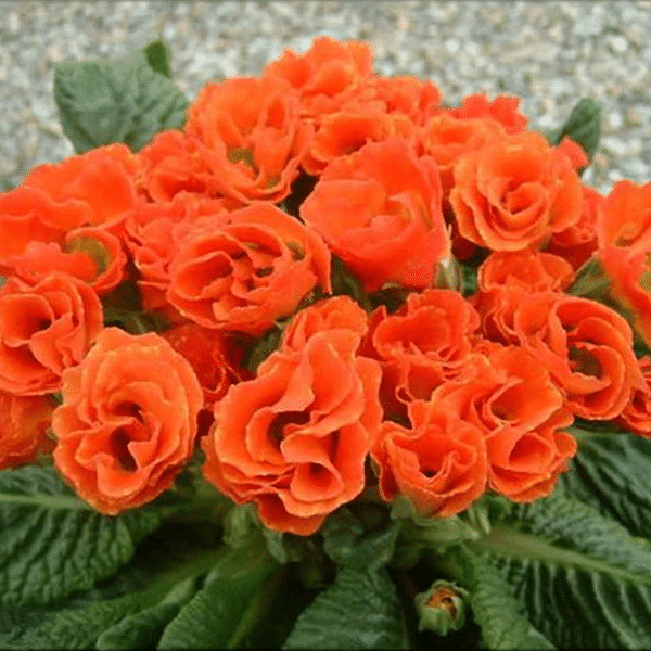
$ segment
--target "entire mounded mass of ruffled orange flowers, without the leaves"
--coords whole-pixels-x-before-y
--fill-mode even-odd
[[[201,449],[309,535],[370,486],[439,518],[549,495],[575,418],[651,436],[651,184],[600,195],[518,105],[323,37],[138,153],[34,169],[0,195],[0,467],[52,452],[115,514]],[[569,291],[595,265],[608,299]]]

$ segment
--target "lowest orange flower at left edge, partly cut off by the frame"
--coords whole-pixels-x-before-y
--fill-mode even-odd
[[[0,470],[34,463],[54,443],[47,431],[54,403],[49,396],[14,396],[0,392]]]

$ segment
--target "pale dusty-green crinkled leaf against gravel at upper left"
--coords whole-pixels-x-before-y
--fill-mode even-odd
[[[180,128],[188,106],[181,91],[152,69],[145,52],[58,64],[54,101],[63,131],[77,153],[112,142],[138,151],[155,133]]]

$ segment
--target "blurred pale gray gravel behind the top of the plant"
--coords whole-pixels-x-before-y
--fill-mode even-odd
[[[444,101],[523,98],[533,128],[559,126],[582,97],[603,107],[585,179],[608,191],[651,180],[649,1],[0,1],[0,181],[73,153],[58,122],[58,62],[119,56],[164,38],[176,82],[257,75],[284,48],[319,35],[363,39],[385,75],[431,77]],[[1,187],[1,186],[0,186]]]

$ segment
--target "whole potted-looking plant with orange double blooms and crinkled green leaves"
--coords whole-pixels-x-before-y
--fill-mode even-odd
[[[318,38],[54,78],[0,194],[0,646],[651,647],[651,183]],[[447,637],[444,637],[447,636]]]

